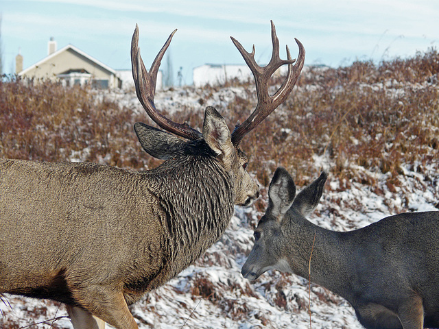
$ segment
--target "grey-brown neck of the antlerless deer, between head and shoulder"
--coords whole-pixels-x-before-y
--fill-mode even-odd
[[[342,295],[348,271],[346,242],[341,232],[326,230],[302,218],[289,223],[286,230],[289,266],[302,278]]]

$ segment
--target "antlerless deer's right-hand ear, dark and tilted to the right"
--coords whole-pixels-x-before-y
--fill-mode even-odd
[[[322,197],[324,183],[327,181],[328,174],[324,171],[320,177],[305,187],[294,199],[293,207],[303,216],[309,215],[316,209],[320,197]]]

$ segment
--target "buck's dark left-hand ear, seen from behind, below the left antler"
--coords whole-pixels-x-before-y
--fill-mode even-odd
[[[174,135],[141,122],[134,124],[134,132],[143,149],[154,158],[162,160],[174,157],[186,143]]]

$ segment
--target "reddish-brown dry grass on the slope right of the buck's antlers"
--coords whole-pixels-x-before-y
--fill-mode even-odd
[[[357,164],[371,171],[401,173],[401,163],[422,171],[438,158],[439,54],[431,49],[408,60],[378,66],[355,62],[339,69],[311,68],[292,96],[266,119],[243,149],[251,149],[258,178],[282,164],[298,184],[316,176],[313,156],[329,156],[331,175],[355,180]],[[232,106],[241,108],[241,99]],[[244,114],[245,116],[245,114]],[[276,163],[271,163],[270,160]],[[267,170],[269,168],[269,170]]]

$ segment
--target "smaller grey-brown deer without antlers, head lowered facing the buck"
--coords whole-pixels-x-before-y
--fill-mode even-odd
[[[439,212],[394,215],[351,232],[325,230],[305,216],[326,180],[322,173],[296,196],[292,177],[276,169],[244,278],[256,280],[268,269],[310,276],[351,303],[366,328],[439,328]]]

